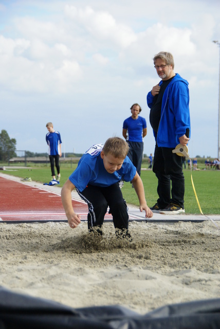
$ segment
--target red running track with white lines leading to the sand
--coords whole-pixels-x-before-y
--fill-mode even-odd
[[[72,198],[72,206],[81,220],[87,220],[87,204]],[[106,216],[112,219],[111,215]],[[67,218],[60,193],[0,177],[0,221],[67,222]]]

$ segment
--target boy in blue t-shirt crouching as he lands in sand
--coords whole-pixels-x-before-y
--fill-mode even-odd
[[[76,188],[78,194],[88,205],[88,230],[102,234],[104,216],[109,207],[118,237],[130,237],[128,232],[129,214],[119,187],[119,181],[132,181],[139,199],[140,211],[145,217],[153,213],[146,204],[143,183],[133,163],[127,157],[129,145],[119,137],[108,138],[105,144],[93,145],[84,153],[77,169],[65,182],[62,203],[69,226],[80,224],[80,215],[72,208],[71,192]]]

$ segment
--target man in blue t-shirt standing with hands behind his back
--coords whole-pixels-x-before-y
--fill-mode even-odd
[[[146,120],[139,116],[141,112],[139,104],[133,104],[130,109],[132,116],[124,120],[122,135],[127,144],[129,144],[129,153],[127,156],[136,167],[137,173],[140,176],[143,138],[146,136]]]

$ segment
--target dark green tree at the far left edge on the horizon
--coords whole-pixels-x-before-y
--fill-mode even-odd
[[[0,134],[0,160],[8,161],[15,157],[16,139],[10,138],[6,130],[2,130]]]

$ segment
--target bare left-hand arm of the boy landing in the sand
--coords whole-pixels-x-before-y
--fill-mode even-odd
[[[71,192],[75,189],[75,185],[71,183],[69,179],[65,182],[62,190],[61,190],[61,198],[63,203],[63,208],[66,213],[66,217],[71,228],[77,227],[80,221],[80,215],[76,214],[74,209],[72,208],[72,196]]]

